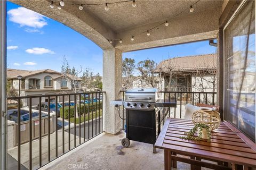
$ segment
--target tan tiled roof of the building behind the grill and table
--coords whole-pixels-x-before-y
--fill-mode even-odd
[[[197,70],[217,70],[217,55],[205,54],[195,56],[183,56],[170,58],[160,62],[155,72],[175,72],[197,71]]]

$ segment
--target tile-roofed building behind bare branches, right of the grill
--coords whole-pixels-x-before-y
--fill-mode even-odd
[[[165,91],[205,91],[217,88],[217,55],[174,57],[157,65]]]

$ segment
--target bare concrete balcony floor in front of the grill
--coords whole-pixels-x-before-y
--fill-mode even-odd
[[[153,145],[137,141],[123,148],[124,137],[123,131],[102,133],[41,169],[164,169],[162,149],[153,154]],[[178,162],[177,169],[190,169],[190,165]]]

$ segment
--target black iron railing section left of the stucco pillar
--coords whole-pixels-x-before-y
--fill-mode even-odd
[[[82,143],[94,138],[98,134],[103,132],[102,129],[102,109],[103,109],[103,95],[105,92],[85,92],[85,93],[76,93],[76,94],[59,94],[59,95],[42,95],[42,96],[22,96],[22,97],[9,97],[8,100],[17,100],[17,125],[15,127],[14,138],[18,140],[18,165],[17,169],[21,169],[21,122],[22,124],[28,123],[28,132],[29,139],[29,169],[37,169],[42,167],[43,165],[51,162],[52,160],[60,157],[66,152],[76,148]],[[71,98],[74,101],[71,101]],[[53,99],[55,101],[53,101]],[[28,106],[26,107],[29,110],[29,120],[27,122],[22,121],[21,110],[23,109],[22,101],[27,100]],[[46,102],[43,102],[45,100]],[[32,103],[37,101],[38,105],[33,106]],[[42,107],[44,105],[44,107]],[[47,108],[45,108],[47,105]],[[55,108],[51,108],[51,105],[55,105]],[[60,107],[60,105],[62,107]],[[38,109],[38,111],[35,111]],[[52,112],[55,111],[55,120],[53,119]],[[39,126],[35,126],[35,117],[33,117],[37,113],[37,119]],[[45,116],[47,114],[47,116]],[[44,119],[47,118],[47,121],[44,120],[44,124],[42,124],[42,115],[44,115]],[[60,117],[58,118],[58,116]],[[76,117],[78,116],[78,117]],[[55,126],[54,122],[55,121]],[[46,122],[46,123],[45,123]],[[32,125],[32,123],[34,125]],[[67,125],[68,124],[68,125]],[[72,127],[71,127],[72,125]],[[35,129],[37,127],[38,129]],[[34,129],[32,129],[34,128]],[[42,130],[46,132],[42,132]],[[52,131],[53,129],[53,131]],[[23,130],[22,130],[23,131]],[[39,131],[39,135],[37,138],[34,138],[33,134],[35,131]],[[54,134],[55,133],[55,137]],[[58,142],[58,133],[62,133],[62,140]],[[68,134],[67,134],[68,133]],[[66,134],[66,135],[65,135]],[[7,134],[8,135],[8,134]],[[68,135],[68,138],[66,136]],[[71,135],[73,135],[74,145],[71,146]],[[47,138],[47,148],[42,148],[42,140]],[[55,154],[51,154],[51,149],[53,150],[51,143],[51,138],[55,138]],[[35,139],[38,139],[38,148],[39,148],[39,160],[33,160],[32,154],[34,147],[32,147],[32,142]],[[83,139],[83,142],[81,141]],[[66,143],[65,143],[66,142]],[[79,145],[77,145],[77,142]],[[43,143],[45,144],[45,143]],[[65,145],[68,144],[68,145]],[[33,146],[35,144],[33,143]],[[62,147],[61,147],[62,145]],[[47,160],[43,160],[45,156],[42,154],[42,150],[47,150]],[[34,155],[33,155],[34,157]],[[23,161],[22,161],[23,162]]]

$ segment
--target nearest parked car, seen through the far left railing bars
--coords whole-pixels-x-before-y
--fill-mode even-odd
[[[18,109],[11,109],[8,111],[8,120],[14,121],[15,123],[18,122]],[[42,117],[47,116],[48,114],[45,112],[41,113]],[[39,117],[39,112],[35,109],[32,109],[32,119],[38,118]],[[29,121],[29,108],[28,107],[22,107],[20,108],[20,121]]]

